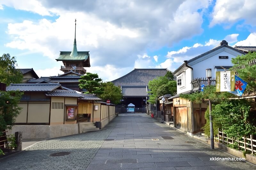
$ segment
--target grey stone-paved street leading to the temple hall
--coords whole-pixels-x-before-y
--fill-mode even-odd
[[[71,153],[50,156],[56,152]],[[244,161],[210,161],[212,157],[233,158],[148,115],[120,114],[104,130],[46,140],[1,159],[0,169],[256,169]]]

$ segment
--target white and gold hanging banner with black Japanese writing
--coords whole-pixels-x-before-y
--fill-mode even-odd
[[[216,71],[216,92],[235,90],[235,71]]]

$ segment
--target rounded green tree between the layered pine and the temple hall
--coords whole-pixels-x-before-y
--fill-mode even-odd
[[[122,99],[122,92],[120,87],[116,87],[112,82],[102,83],[103,93],[99,97],[106,102],[110,100],[113,104],[119,104]]]

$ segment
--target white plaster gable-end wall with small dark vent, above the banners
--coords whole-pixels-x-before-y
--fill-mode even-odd
[[[205,78],[205,69],[212,69],[212,78],[215,78],[214,66],[233,66],[231,58],[242,55],[236,50],[228,47],[223,47],[219,50],[213,51],[205,56],[202,56],[194,61],[188,63],[193,68],[193,78]],[[219,56],[228,56],[228,59],[219,59]]]

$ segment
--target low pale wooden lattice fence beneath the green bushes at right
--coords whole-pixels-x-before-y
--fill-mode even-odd
[[[223,133],[223,130],[220,131],[219,128],[218,128],[218,131],[219,133],[217,137],[215,137],[215,139],[217,139],[219,143],[234,144],[234,142],[237,142],[239,150],[243,148],[244,151],[246,150],[251,151],[252,155],[256,153],[256,140],[253,139],[253,135],[250,135],[250,137],[244,136],[242,137],[241,140],[238,141],[238,139],[227,137],[227,134]]]

